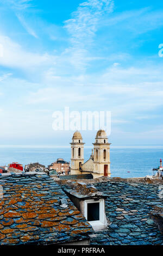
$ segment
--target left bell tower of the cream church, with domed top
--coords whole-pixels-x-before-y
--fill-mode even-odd
[[[79,131],[74,132],[71,144],[71,175],[81,174],[84,163],[84,144]]]

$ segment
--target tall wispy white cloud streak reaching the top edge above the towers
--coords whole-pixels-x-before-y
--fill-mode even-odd
[[[77,68],[82,69],[89,62],[86,58],[89,57],[87,49],[91,47],[99,28],[99,20],[104,14],[111,13],[113,7],[113,0],[88,0],[79,4],[71,14],[72,19],[65,21],[71,44],[65,53],[72,56],[72,64]]]

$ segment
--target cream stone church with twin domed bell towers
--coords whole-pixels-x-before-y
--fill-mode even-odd
[[[74,132],[71,144],[71,175],[89,174],[93,178],[109,176],[110,173],[110,144],[104,130],[96,134],[90,159],[84,162],[84,144],[79,131]]]

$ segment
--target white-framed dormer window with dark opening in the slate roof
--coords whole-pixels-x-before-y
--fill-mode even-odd
[[[84,202],[84,216],[86,220],[92,225],[101,225],[104,223],[104,199],[99,200],[85,200]]]

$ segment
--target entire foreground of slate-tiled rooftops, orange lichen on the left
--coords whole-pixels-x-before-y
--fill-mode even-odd
[[[162,245],[161,182],[1,174],[0,245]],[[80,200],[104,200],[103,230],[92,229]]]

